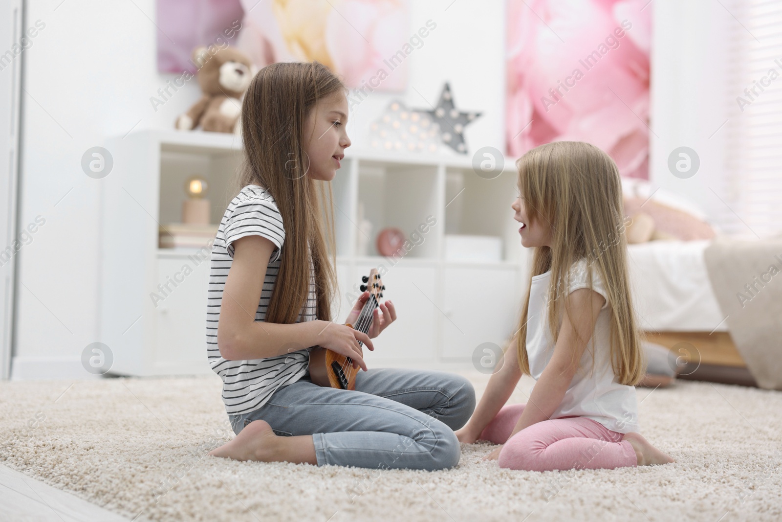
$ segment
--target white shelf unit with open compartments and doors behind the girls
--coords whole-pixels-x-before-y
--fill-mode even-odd
[[[241,141],[201,131],[138,131],[106,148],[114,167],[102,180],[100,325],[101,340],[113,354],[112,373],[209,373],[208,254],[199,258],[196,248],[158,248],[158,226],[179,221],[183,184],[195,174],[210,182],[212,222],[221,221],[235,195],[231,186]],[[469,158],[346,153],[332,182],[339,280],[335,319],[344,321],[361,275],[385,267],[385,297],[396,305],[398,319],[375,340],[368,365],[471,365],[475,347],[501,344],[518,317],[527,256],[510,207],[515,168],[511,164],[497,178],[484,179]],[[359,202],[372,224],[368,255],[357,253]],[[395,227],[410,236],[427,218],[436,225],[421,234],[422,240],[415,238],[418,244],[404,257],[377,254],[381,229]],[[447,261],[446,233],[498,236],[503,258]],[[184,275],[185,266],[192,273]],[[181,282],[174,287],[170,279]],[[164,296],[158,285],[166,283],[171,291]],[[155,302],[154,293],[163,300]]]

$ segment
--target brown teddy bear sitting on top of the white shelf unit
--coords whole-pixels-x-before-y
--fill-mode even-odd
[[[256,67],[243,52],[231,47],[197,47],[192,52],[192,63],[199,69],[201,99],[177,118],[174,127],[191,131],[200,124],[204,131],[239,132],[242,95]]]

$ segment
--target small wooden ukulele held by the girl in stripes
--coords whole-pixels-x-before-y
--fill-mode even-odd
[[[364,285],[361,285],[361,291],[369,290],[369,299],[361,308],[361,313],[356,319],[356,326],[346,324],[350,328],[357,329],[361,333],[367,333],[372,326],[372,313],[378,308],[378,299],[383,297],[382,279],[377,269],[372,268],[369,275],[361,278]],[[358,341],[361,347],[363,343]],[[353,368],[353,359],[345,355],[338,354],[335,351],[324,347],[316,346],[310,351],[310,380],[318,386],[339,388],[342,390],[356,389],[356,375],[361,368]]]

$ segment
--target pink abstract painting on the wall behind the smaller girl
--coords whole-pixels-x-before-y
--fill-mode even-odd
[[[648,178],[648,0],[508,0],[506,146],[552,141],[605,150]]]

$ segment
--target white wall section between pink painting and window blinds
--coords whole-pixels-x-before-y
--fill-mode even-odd
[[[727,199],[726,43],[730,24],[739,22],[710,0],[652,5],[649,178],[655,188],[693,200],[710,219],[719,221],[727,210],[716,196]],[[677,178],[668,169],[669,154],[680,146],[691,147],[700,157],[701,166],[691,178]]]

